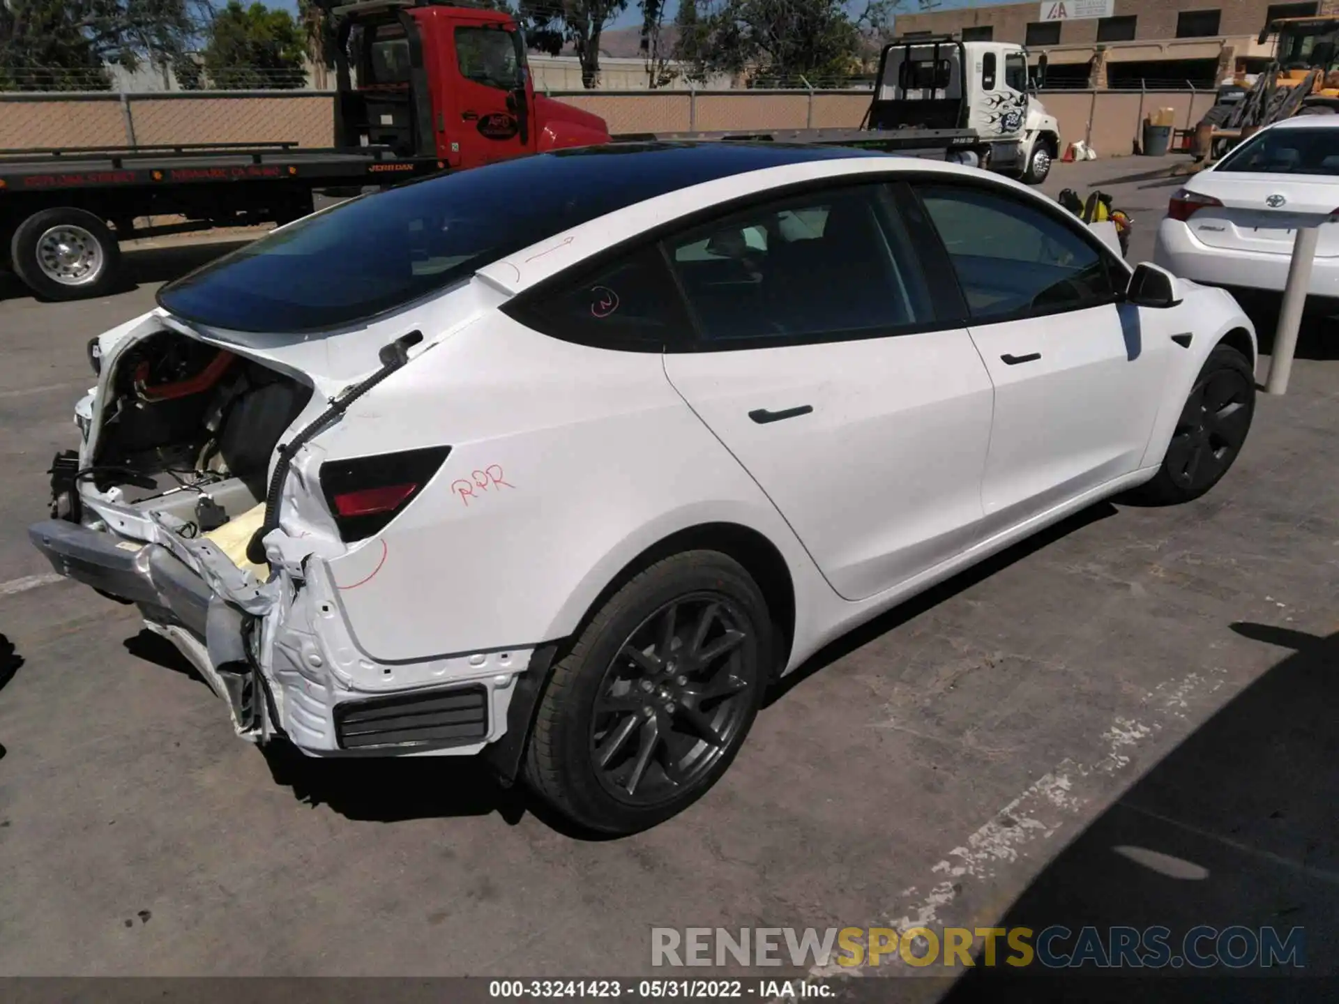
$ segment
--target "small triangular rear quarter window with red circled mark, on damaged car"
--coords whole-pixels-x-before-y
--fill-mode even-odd
[[[683,301],[655,245],[502,309],[528,328],[596,348],[659,352],[692,337]]]

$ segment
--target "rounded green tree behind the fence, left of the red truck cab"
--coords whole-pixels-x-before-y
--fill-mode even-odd
[[[205,74],[226,90],[292,88],[307,83],[305,39],[288,11],[229,0],[206,31]]]

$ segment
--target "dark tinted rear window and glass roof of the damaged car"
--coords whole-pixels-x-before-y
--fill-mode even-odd
[[[165,286],[158,303],[232,331],[340,328],[404,307],[511,252],[665,191],[832,147],[620,145],[430,178],[299,221]]]

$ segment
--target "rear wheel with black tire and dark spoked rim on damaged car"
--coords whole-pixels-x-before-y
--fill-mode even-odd
[[[773,653],[767,604],[739,562],[694,550],[651,565],[553,668],[526,783],[590,830],[629,834],[668,819],[730,767]]]

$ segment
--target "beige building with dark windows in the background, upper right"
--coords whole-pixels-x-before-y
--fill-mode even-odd
[[[1058,1],[902,13],[894,28],[1027,46],[1034,66],[1046,54],[1052,88],[1209,88],[1239,62],[1249,72],[1264,67],[1273,43],[1256,37],[1268,21],[1339,13],[1339,0],[1115,0],[1110,17],[1046,20]]]

